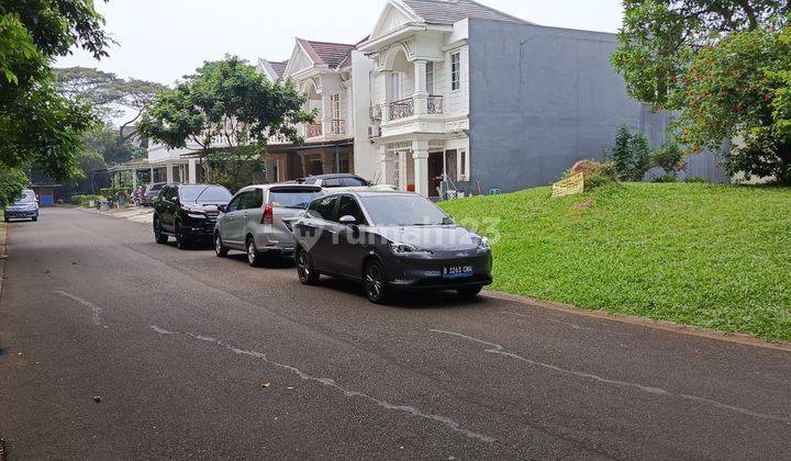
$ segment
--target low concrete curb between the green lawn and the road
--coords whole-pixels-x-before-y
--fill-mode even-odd
[[[516,294],[502,293],[499,291],[483,291],[484,296],[492,297],[495,300],[511,301],[524,306],[538,307],[552,311],[559,311],[571,315],[579,315],[583,317],[598,318],[610,322],[620,322],[622,324],[637,325],[646,328],[659,329],[664,331],[672,331],[682,335],[697,336],[700,338],[712,339],[715,341],[734,342],[742,346],[759,347],[764,349],[782,350],[791,352],[791,342],[786,341],[770,341],[767,339],[757,338],[755,336],[742,335],[735,333],[723,333],[714,329],[681,325],[668,321],[654,321],[650,318],[636,317],[626,314],[611,314],[603,311],[590,311],[581,307],[572,306],[570,304],[555,303],[552,301],[536,300],[527,296],[520,296]]]

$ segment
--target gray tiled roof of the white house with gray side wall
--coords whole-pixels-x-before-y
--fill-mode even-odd
[[[401,0],[430,24],[454,24],[464,19],[526,22],[472,0]]]

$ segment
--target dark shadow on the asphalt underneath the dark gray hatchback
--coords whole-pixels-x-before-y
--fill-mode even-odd
[[[335,279],[332,277],[322,277],[319,280],[319,286],[344,292],[355,296],[359,296],[367,301],[363,292],[363,285],[349,280]],[[387,303],[387,307],[404,308],[404,310],[434,310],[434,308],[460,308],[460,307],[482,307],[487,304],[487,299],[482,296],[474,299],[464,299],[455,291],[424,291],[411,290],[394,292]]]

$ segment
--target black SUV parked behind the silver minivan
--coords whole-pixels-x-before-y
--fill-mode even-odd
[[[211,240],[220,205],[227,205],[231,192],[213,184],[167,184],[154,201],[154,238],[185,249],[196,240]]]

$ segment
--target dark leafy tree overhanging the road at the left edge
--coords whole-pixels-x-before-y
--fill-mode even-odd
[[[110,43],[92,0],[0,0],[0,164],[3,189],[29,164],[56,179],[79,175],[81,134],[91,108],[60,95],[52,81],[55,56],[81,46],[98,59]],[[13,171],[11,171],[13,170]]]

